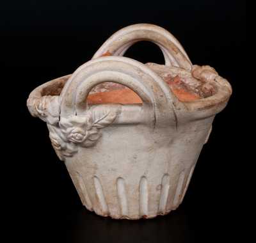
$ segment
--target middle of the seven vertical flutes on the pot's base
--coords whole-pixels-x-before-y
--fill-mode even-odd
[[[148,182],[145,176],[140,180],[140,215],[142,217],[148,215]]]

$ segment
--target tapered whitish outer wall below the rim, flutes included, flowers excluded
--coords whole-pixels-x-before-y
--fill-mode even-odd
[[[197,123],[196,123],[197,124]],[[109,127],[65,164],[88,210],[115,219],[152,218],[179,207],[209,132]]]

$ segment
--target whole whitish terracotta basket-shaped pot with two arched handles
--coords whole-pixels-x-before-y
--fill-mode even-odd
[[[156,43],[165,65],[122,57],[140,40]],[[47,122],[83,205],[100,216],[140,219],[180,205],[231,93],[213,68],[191,65],[168,31],[138,24],[116,32],[74,74],[36,88],[28,107]]]

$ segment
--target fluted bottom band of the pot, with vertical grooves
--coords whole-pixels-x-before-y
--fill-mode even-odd
[[[69,172],[88,210],[114,219],[140,219],[168,214],[179,207],[194,169],[195,164],[177,176],[165,173],[161,178],[132,178],[136,185],[121,176],[112,178],[109,184],[104,177],[88,179],[81,173]]]

